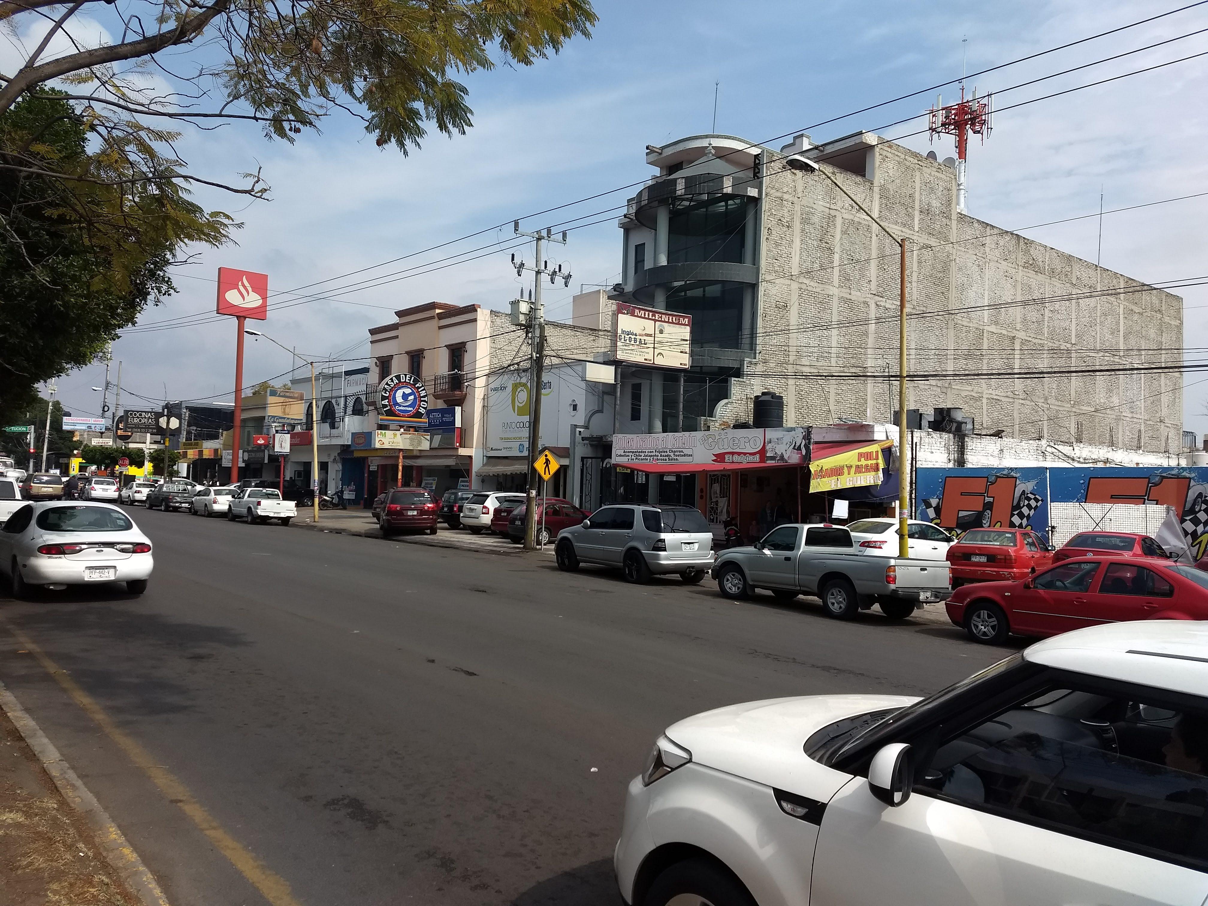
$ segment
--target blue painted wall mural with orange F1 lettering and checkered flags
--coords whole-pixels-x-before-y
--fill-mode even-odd
[[[1198,559],[1208,547],[1208,469],[919,469],[916,518],[951,529],[1049,534],[1049,504],[1165,504]]]

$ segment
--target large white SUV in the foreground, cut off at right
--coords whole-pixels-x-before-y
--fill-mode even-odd
[[[1201,906],[1208,623],[1041,641],[924,701],[668,727],[614,858],[641,906]]]

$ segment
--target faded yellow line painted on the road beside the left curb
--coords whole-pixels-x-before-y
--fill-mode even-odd
[[[92,696],[85,692],[66,670],[59,668],[33,639],[13,626],[7,617],[0,616],[0,621],[4,621],[5,626],[8,627],[8,632],[37,658],[37,662],[46,668],[46,672],[54,678],[54,681],[59,684],[63,691],[71,696],[71,699],[80,705],[85,714],[92,718],[97,726],[105,731],[105,736],[117,743],[122,751],[129,756],[130,761],[151,778],[151,782],[159,788],[159,791],[170,802],[179,806],[181,812],[188,815],[210,843],[231,860],[236,870],[248,878],[265,895],[266,900],[273,904],[273,906],[300,906],[298,901],[294,899],[289,882],[285,878],[266,867],[239,841],[227,834],[214,820],[214,817],[205,811],[205,807],[193,797],[188,788],[178,780],[165,767],[155,763],[151,754],[126,733],[126,731],[114,724],[109,714],[93,701]]]

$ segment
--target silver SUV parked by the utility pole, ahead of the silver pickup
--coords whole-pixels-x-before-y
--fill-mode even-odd
[[[564,528],[556,553],[558,569],[567,571],[598,563],[621,567],[627,582],[679,573],[696,585],[713,567],[713,532],[691,506],[617,504]]]

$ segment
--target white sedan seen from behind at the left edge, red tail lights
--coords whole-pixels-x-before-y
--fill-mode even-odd
[[[141,594],[153,565],[151,541],[111,504],[31,503],[0,529],[0,567],[16,598],[93,582],[126,582]]]

